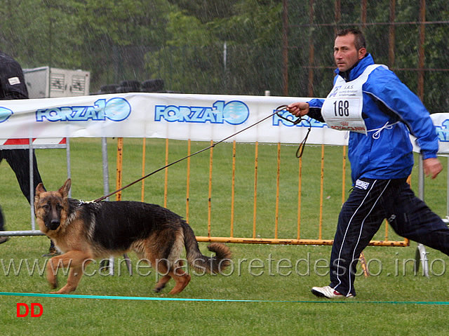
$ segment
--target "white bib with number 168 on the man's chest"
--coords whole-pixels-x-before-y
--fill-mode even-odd
[[[377,67],[384,65],[370,65],[361,76],[354,81],[346,82],[338,76],[335,85],[321,107],[321,114],[328,127],[334,130],[351,130],[367,134],[363,120],[363,92],[362,86],[369,74]]]

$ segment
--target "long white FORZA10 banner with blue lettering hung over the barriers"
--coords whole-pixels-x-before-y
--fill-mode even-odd
[[[177,93],[1,100],[0,137],[160,137],[217,142],[248,128],[227,141],[298,144],[310,123],[307,144],[347,145],[346,131],[332,130],[309,118],[293,125],[274,114],[280,105],[307,100],[310,98]],[[281,115],[294,119],[286,111]],[[440,153],[449,154],[449,113],[431,117]]]

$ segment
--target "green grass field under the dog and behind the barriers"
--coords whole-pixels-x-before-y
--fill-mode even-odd
[[[123,184],[142,175],[142,140],[126,139],[123,151]],[[110,189],[115,189],[116,140],[109,139]],[[192,142],[192,152],[208,143]],[[296,238],[298,161],[296,148],[281,149],[279,238]],[[323,187],[323,238],[333,238],[342,203],[342,150],[326,147]],[[170,142],[169,161],[187,154],[185,142]],[[231,222],[232,144],[214,148],[212,235],[229,236]],[[257,236],[273,238],[276,206],[276,146],[260,145],[257,187]],[[65,150],[36,151],[47,189],[59,188],[67,177]],[[165,140],[147,140],[146,173],[165,164]],[[71,142],[72,197],[90,201],[102,196],[100,140],[74,139]],[[429,206],[446,216],[447,162],[437,180],[426,181]],[[321,147],[304,151],[302,173],[301,237],[318,238]],[[348,163],[349,165],[349,163]],[[185,215],[186,167],[182,161],[168,170],[167,207]],[[349,166],[348,166],[349,168]],[[197,236],[207,235],[209,152],[191,159],[189,222]],[[145,201],[163,204],[164,172],[145,180]],[[236,152],[234,236],[253,233],[254,145],[238,145]],[[29,206],[20,193],[11,168],[0,165],[0,205],[6,229],[30,228]],[[417,168],[413,189],[417,192]],[[123,199],[140,201],[141,184],[123,191]],[[350,182],[347,175],[346,194]],[[376,238],[384,236],[380,230]],[[397,237],[389,230],[389,239]],[[42,269],[50,241],[45,236],[12,237],[0,245],[2,293],[48,293]],[[204,254],[206,243],[200,243]],[[173,301],[152,292],[156,275],[140,267],[130,255],[133,276],[120,258],[115,275],[105,274],[100,264],[86,269],[74,295],[105,297],[153,297],[159,300],[111,300],[78,297],[32,297],[0,295],[0,334],[23,335],[442,335],[449,302],[446,267],[449,257],[427,249],[431,275],[414,274],[416,244],[409,247],[368,247],[364,251],[371,276],[360,274],[357,296],[339,302],[318,299],[310,293],[314,285],[328,284],[330,246],[281,246],[229,244],[233,265],[222,276],[194,274],[187,288]],[[22,267],[19,267],[22,261]],[[35,266],[34,271],[32,270]],[[14,268],[14,266],[16,268]],[[28,266],[28,267],[27,267]],[[360,269],[360,267],[359,267]],[[150,271],[152,271],[150,273]],[[360,272],[361,273],[361,272]],[[59,275],[60,284],[66,276]],[[207,301],[197,301],[204,299]],[[192,301],[189,301],[192,300]],[[229,300],[228,302],[214,300]],[[247,300],[238,302],[236,300]],[[38,302],[41,317],[16,317],[18,302]],[[421,302],[421,303],[417,303]]]

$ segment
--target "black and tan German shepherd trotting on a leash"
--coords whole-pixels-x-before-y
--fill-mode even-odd
[[[217,273],[230,263],[231,252],[222,243],[208,246],[215,257],[202,255],[189,224],[166,208],[136,201],[86,203],[67,197],[71,185],[68,179],[58,191],[46,191],[39,184],[34,197],[39,229],[63,253],[52,257],[46,266],[53,289],[58,287],[55,270],[70,267],[67,284],[54,294],[74,291],[88,262],[130,250],[149,260],[162,274],[154,288],[157,293],[170,278],[175,280],[170,294],[180,293],[189,283],[190,276],[182,270],[180,260],[184,248],[187,262],[208,273]]]

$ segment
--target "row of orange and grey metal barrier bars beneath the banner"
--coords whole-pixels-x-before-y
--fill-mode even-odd
[[[304,239],[300,238],[300,207],[301,207],[301,197],[298,197],[298,228],[297,228],[297,238],[278,238],[277,237],[277,215],[276,215],[276,223],[275,223],[275,236],[274,238],[255,238],[255,212],[256,212],[256,203],[257,203],[257,159],[258,159],[258,143],[255,143],[255,185],[254,185],[254,222],[253,222],[253,237],[234,237],[233,236],[233,212],[234,212],[234,206],[232,206],[232,223],[231,223],[231,234],[229,237],[217,237],[217,236],[210,236],[210,192],[211,192],[211,180],[212,180],[212,167],[213,167],[213,148],[210,149],[210,174],[209,174],[209,204],[208,204],[208,236],[197,236],[197,240],[200,242],[222,242],[222,243],[259,243],[259,244],[286,244],[286,245],[323,245],[323,246],[330,246],[333,243],[333,240],[331,239],[322,239],[321,237],[321,220],[322,215],[320,214],[320,229],[319,229],[319,238],[317,239]],[[276,211],[279,207],[279,168],[280,168],[280,149],[281,144],[278,144],[278,157],[277,157],[277,177],[276,177]],[[324,162],[323,162],[323,156],[324,156],[324,145],[321,145],[321,202],[323,199],[323,169],[324,169]],[[58,144],[58,145],[33,145],[32,139],[29,140],[29,145],[0,145],[0,149],[29,149],[29,155],[30,155],[30,167],[29,167],[29,173],[30,173],[30,181],[33,182],[33,161],[32,161],[32,151],[33,149],[58,149],[58,148],[65,148],[67,151],[67,176],[71,176],[71,168],[70,168],[70,146],[69,146],[69,138],[66,140],[66,144]],[[188,151],[190,153],[190,140],[188,143]],[[117,187],[121,186],[121,169],[119,168],[121,166],[121,152],[123,151],[123,141],[118,142],[118,155],[117,155]],[[235,157],[236,157],[236,142],[233,143],[233,170],[235,169]],[[342,155],[342,164],[343,164],[343,170],[346,169],[346,147],[343,147],[343,155]],[[449,158],[448,158],[449,162]],[[107,160],[107,140],[106,138],[102,138],[102,163],[103,163],[103,181],[104,181],[104,192],[105,194],[109,193],[109,175],[108,175],[108,160]],[[166,163],[168,163],[168,139],[166,140]],[[190,161],[187,162],[187,178],[189,177],[189,170],[190,170]],[[418,170],[418,196],[421,199],[424,199],[424,171],[422,166],[422,156],[420,156],[419,159],[419,170]],[[234,175],[235,171],[233,171],[233,177],[232,177],[232,198],[234,199]],[[142,176],[145,175],[145,139],[143,142],[143,153],[142,153]],[[299,175],[301,182],[301,175],[302,175],[302,159],[299,160]],[[344,176],[344,174],[343,174]],[[168,179],[168,168],[166,168],[166,185],[167,185],[167,179]],[[33,183],[31,183],[33,185]],[[342,202],[344,202],[344,180],[342,181]],[[144,198],[144,183],[142,181],[142,201]],[[31,187],[32,189],[32,187]],[[34,190],[30,190],[31,197],[33,199]],[[298,186],[298,195],[301,195],[301,184]],[[449,179],[448,179],[448,213],[449,213]],[[120,199],[120,195],[117,196],[117,199]],[[167,187],[165,187],[164,191],[164,206],[166,206],[167,203]],[[232,205],[234,202],[232,202]],[[186,197],[186,214],[187,214],[187,221],[189,220],[189,187],[187,187],[187,197]],[[320,209],[322,209],[322,204],[320,205]],[[32,218],[32,229],[26,230],[26,231],[0,231],[0,236],[42,236],[43,233],[39,231],[39,229],[36,229],[35,222],[34,222],[34,206],[30,206],[30,214]],[[449,223],[448,217],[443,219],[444,222]],[[371,241],[370,246],[410,246],[410,242],[408,239],[405,239],[404,241],[389,241],[387,238],[388,235],[388,226],[386,229],[386,239],[382,241]],[[417,261],[419,260],[422,264],[422,267],[424,268],[424,274],[427,274],[428,276],[428,269],[427,266],[427,260],[425,257],[425,248],[421,244],[418,245],[417,248]],[[417,267],[419,268],[419,263],[417,263]]]

